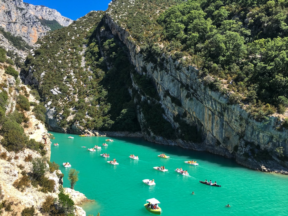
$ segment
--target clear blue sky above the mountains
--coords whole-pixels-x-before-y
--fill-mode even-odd
[[[111,0],[24,0],[33,5],[44,5],[56,9],[62,16],[72,20],[85,16],[92,10],[107,10]]]

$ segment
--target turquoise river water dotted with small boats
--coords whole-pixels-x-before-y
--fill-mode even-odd
[[[79,137],[73,134],[52,132],[51,161],[60,165],[64,173],[64,187],[70,162],[79,171],[75,185],[88,199],[95,202],[81,207],[87,216],[154,215],[145,210],[146,199],[156,198],[161,203],[162,214],[174,215],[287,215],[288,176],[263,173],[236,164],[233,160],[213,154],[150,143],[142,139],[121,137]],[[69,135],[74,139],[68,139]],[[113,142],[105,139],[112,138]],[[53,146],[58,142],[59,146]],[[103,147],[102,143],[107,143]],[[87,151],[101,145],[96,152]],[[81,146],[86,146],[82,148]],[[110,158],[100,154],[109,153]],[[165,153],[170,158],[159,158]],[[129,158],[130,154],[139,160]],[[115,158],[119,165],[108,164]],[[196,160],[199,165],[185,164]],[[167,172],[154,170],[164,165]],[[176,173],[176,168],[187,170],[189,176]],[[143,179],[154,179],[156,185],[148,186]],[[222,187],[212,187],[199,180],[217,181]],[[195,194],[191,194],[194,191]],[[226,204],[231,207],[225,207]]]

